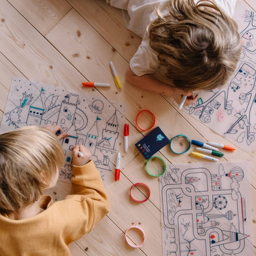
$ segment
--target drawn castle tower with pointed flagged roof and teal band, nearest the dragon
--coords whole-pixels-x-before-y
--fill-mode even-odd
[[[34,100],[30,105],[30,110],[28,112],[28,118],[26,119],[26,124],[39,126],[42,121],[42,114],[44,113],[44,104],[42,103],[42,92],[44,89],[41,88],[40,95]]]

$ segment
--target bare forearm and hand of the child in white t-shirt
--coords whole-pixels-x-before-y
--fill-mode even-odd
[[[197,96],[194,97],[193,92],[182,90],[178,87],[175,87],[174,85],[161,82],[158,79],[154,78],[151,74],[143,74],[142,76],[137,76],[130,69],[130,67],[128,67],[126,70],[126,79],[131,84],[134,84],[135,86],[138,86],[142,89],[150,90],[151,92],[157,92],[158,94],[171,96],[178,104],[180,104],[183,95],[186,95],[188,96],[188,98],[186,99],[184,106],[193,104],[197,99]]]

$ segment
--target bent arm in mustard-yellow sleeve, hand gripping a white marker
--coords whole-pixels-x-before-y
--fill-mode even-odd
[[[78,151],[83,154],[82,157]],[[110,210],[102,177],[89,159],[90,151],[85,146],[73,147],[73,194],[66,196],[68,206],[64,210],[66,215],[73,218],[70,241],[89,233]]]

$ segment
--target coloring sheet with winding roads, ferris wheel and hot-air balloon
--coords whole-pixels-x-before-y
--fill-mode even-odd
[[[160,181],[163,255],[254,254],[247,162],[169,165]]]

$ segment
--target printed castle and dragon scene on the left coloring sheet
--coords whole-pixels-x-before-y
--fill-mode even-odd
[[[94,101],[101,108],[101,111],[95,111],[98,108],[96,105],[81,107],[78,94],[68,93],[64,97],[49,95],[43,88],[36,97],[24,92],[19,101],[20,106],[6,113],[8,126],[17,128],[26,125],[60,125],[62,131],[69,134],[60,142],[65,156],[65,165],[60,175],[64,179],[72,177],[72,147],[78,144],[89,148],[97,168],[110,171],[113,169],[110,164],[111,156],[116,153],[119,137],[116,110],[106,119],[98,116],[103,113],[104,105],[101,100]],[[90,116],[90,120],[87,116]],[[94,123],[89,125],[93,120]]]

